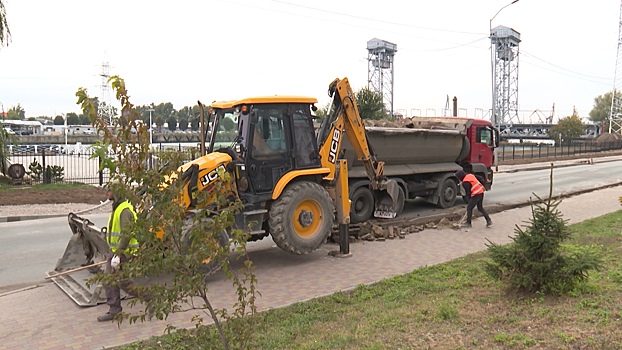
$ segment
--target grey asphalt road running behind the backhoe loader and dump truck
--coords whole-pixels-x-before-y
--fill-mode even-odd
[[[622,161],[576,165],[554,170],[554,195],[570,194],[622,183]],[[486,194],[486,205],[516,206],[526,203],[532,193],[546,197],[550,170],[497,173],[493,190]],[[462,206],[463,207],[463,206]],[[402,214],[405,218],[426,217],[463,210],[450,210],[413,201]],[[88,215],[97,226],[106,224],[107,214]],[[66,218],[29,220],[0,224],[0,293],[34,284],[47,283],[45,272],[54,268],[65,250],[71,231]],[[253,250],[273,246],[270,240],[253,243]]]

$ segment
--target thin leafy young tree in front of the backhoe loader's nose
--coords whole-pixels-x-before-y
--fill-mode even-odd
[[[247,348],[258,292],[254,266],[246,253],[249,232],[233,228],[234,215],[242,208],[237,196],[228,190],[233,179],[228,173],[220,172],[209,191],[195,192],[197,205],[188,211],[183,200],[188,179],[179,168],[187,160],[180,152],[164,151],[159,154],[161,171],[147,167],[147,125],[137,122],[141,114],[130,103],[125,82],[117,76],[110,81],[124,116],[123,123],[114,131],[97,114],[86,90],[81,88],[76,95],[84,114],[103,134],[94,157],[102,157],[102,166],[110,170],[113,180],[118,180],[113,182],[115,193],[128,199],[137,211],[136,222],[121,234],[131,232],[141,247],[121,271],[100,274],[90,283],[118,284],[119,280],[148,278],[147,283],[132,287],[130,293],[137,297],[129,301],[129,306],[146,304],[153,313],[124,312],[117,318],[119,323],[143,322],[153,317],[166,319],[172,312],[188,311],[196,326],[198,343],[208,343],[201,341],[210,333],[204,326],[204,318],[208,317],[214,321],[224,348]],[[140,190],[132,189],[130,184],[139,184]],[[234,256],[244,260],[238,270],[229,265],[232,250]],[[210,303],[206,273],[217,267],[222,267],[236,288],[237,300],[231,309],[215,309]],[[169,331],[173,329],[168,327]],[[185,330],[180,332],[183,334]]]

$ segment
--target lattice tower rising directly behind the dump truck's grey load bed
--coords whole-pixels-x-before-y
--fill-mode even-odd
[[[367,42],[367,88],[382,95],[385,110],[393,116],[393,61],[397,45],[380,39]]]

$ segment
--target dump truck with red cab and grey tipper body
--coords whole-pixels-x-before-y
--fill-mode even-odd
[[[441,208],[452,207],[460,195],[459,181],[454,176],[459,169],[482,176],[487,190],[492,186],[499,132],[487,120],[413,117],[399,126],[396,123],[395,127],[365,129],[378,160],[384,162],[384,175],[400,185],[398,215],[404,201],[415,198]],[[350,220],[369,220],[374,213],[374,197],[363,163],[356,159],[347,139],[343,140],[342,150],[349,166]]]

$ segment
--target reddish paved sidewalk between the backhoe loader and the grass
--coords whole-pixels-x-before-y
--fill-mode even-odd
[[[607,188],[566,198],[559,209],[576,223],[622,209],[621,195],[622,186]],[[328,255],[336,245],[306,256],[276,247],[255,251],[251,259],[262,294],[256,305],[263,311],[374,283],[483,250],[486,239],[507,243],[514,225],[522,225],[530,215],[530,208],[523,207],[493,214],[491,228],[480,218],[468,230],[426,229],[405,239],[357,242],[350,245],[353,256],[345,259]],[[214,307],[232,305],[234,290],[221,274],[210,277],[209,283]],[[161,335],[167,324],[192,326],[190,312],[173,314],[167,321],[123,323],[120,328],[100,323],[96,317],[106,312],[106,305],[80,308],[51,282],[0,296],[0,310],[0,349],[101,349]]]

